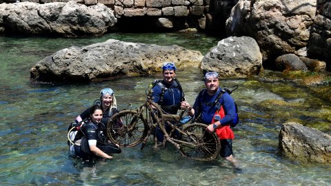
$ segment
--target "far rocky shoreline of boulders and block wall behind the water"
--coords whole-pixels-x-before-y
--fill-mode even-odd
[[[331,32],[331,1],[36,2],[0,4],[0,33],[87,37],[114,32],[121,25],[130,25],[134,27],[132,30],[159,28],[163,32],[217,30],[216,34],[225,38],[254,39],[259,45],[265,69],[285,72],[331,69],[331,52],[328,52],[331,51],[331,35],[328,34]],[[197,7],[201,9],[199,14],[194,13],[199,9]],[[130,14],[125,13],[129,10]],[[215,20],[223,22],[214,25]]]

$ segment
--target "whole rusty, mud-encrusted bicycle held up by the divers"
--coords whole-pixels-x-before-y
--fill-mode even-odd
[[[160,105],[152,101],[152,90],[146,90],[147,99],[139,109],[122,110],[114,114],[108,121],[107,134],[112,143],[122,147],[134,147],[142,143],[145,147],[149,136],[154,135],[154,130],[159,127],[164,134],[165,143],[174,145],[183,156],[199,161],[212,161],[217,158],[221,144],[217,134],[206,131],[208,125],[202,123],[182,123],[181,119],[186,110],[179,115],[165,114]],[[145,114],[146,112],[146,114]],[[171,131],[165,130],[165,124],[170,125]],[[177,132],[179,138],[172,134]],[[154,144],[157,140],[154,137]]]

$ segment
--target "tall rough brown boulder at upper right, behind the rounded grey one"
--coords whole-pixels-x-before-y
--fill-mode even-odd
[[[256,39],[263,65],[277,56],[294,53],[308,43],[317,0],[240,0],[226,21],[229,36]],[[268,60],[270,59],[270,60]]]

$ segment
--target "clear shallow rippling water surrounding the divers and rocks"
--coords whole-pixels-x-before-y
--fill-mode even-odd
[[[240,174],[219,158],[210,163],[189,161],[174,147],[124,148],[112,161],[83,164],[68,157],[68,123],[112,87],[119,108],[139,106],[145,89],[159,74],[79,85],[38,85],[30,68],[44,57],[71,45],[120,39],[159,45],[177,44],[203,54],[218,39],[203,34],[108,34],[92,39],[0,37],[0,185],[331,185],[331,166],[300,163],[278,154],[281,124],[298,121],[331,134],[330,94],[288,81],[265,83],[261,76],[226,79],[223,87],[239,85],[232,96],[241,123],[234,128],[234,154]],[[278,76],[268,72],[265,76]],[[193,103],[203,87],[200,70],[179,70],[185,95]],[[330,85],[323,88],[330,90]],[[330,92],[330,91],[329,91]]]

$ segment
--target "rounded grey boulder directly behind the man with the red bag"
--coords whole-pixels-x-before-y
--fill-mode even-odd
[[[205,54],[203,71],[216,71],[222,77],[246,77],[259,74],[262,55],[257,42],[251,37],[228,37]]]

